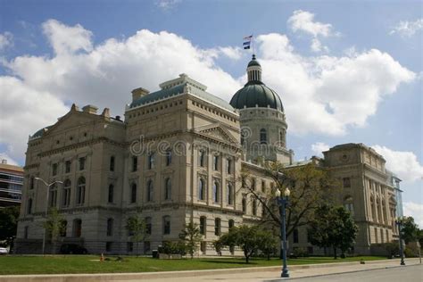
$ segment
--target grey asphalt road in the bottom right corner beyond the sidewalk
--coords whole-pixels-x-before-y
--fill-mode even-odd
[[[342,281],[342,282],[422,282],[423,264],[411,265],[406,267],[388,268],[385,270],[365,270],[342,274],[330,274],[310,278],[288,278],[275,279],[273,281],[295,281],[295,282],[320,282],[320,281]]]

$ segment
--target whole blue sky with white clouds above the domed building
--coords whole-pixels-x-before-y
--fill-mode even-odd
[[[0,0],[0,156],[24,165],[72,103],[123,115],[132,89],[180,73],[229,101],[254,52],[295,159],[371,146],[423,228],[422,38],[419,1]]]

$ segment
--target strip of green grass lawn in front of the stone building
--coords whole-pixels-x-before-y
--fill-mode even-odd
[[[100,262],[99,257],[94,255],[3,256],[0,257],[0,275],[213,270],[281,265],[279,259],[267,261],[259,258],[253,258],[248,264],[243,258],[158,260],[124,256],[124,261],[114,261],[116,257],[112,256],[109,258],[111,261]],[[328,257],[311,257],[288,260],[288,265],[360,261],[361,259],[374,261],[386,258],[361,256],[334,260]]]

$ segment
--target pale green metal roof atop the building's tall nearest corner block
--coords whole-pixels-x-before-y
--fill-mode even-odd
[[[173,82],[170,84],[170,82]],[[142,97],[138,98],[137,100],[133,101],[129,104],[129,109],[133,109],[145,104],[152,104],[158,101],[162,101],[165,99],[169,99],[170,97],[182,94],[191,94],[202,98],[212,104],[216,104],[230,112],[234,112],[235,109],[228,104],[228,102],[220,99],[215,95],[211,95],[210,93],[206,92],[206,87],[202,84],[198,83],[194,79],[190,79],[187,77],[186,74],[179,75],[178,79],[172,79],[167,82],[163,82],[161,84],[162,89],[159,91],[155,91],[153,93],[149,93],[143,95]],[[189,88],[189,90],[187,90]]]

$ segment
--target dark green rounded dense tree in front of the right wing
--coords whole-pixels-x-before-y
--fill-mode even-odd
[[[357,233],[358,227],[352,220],[350,212],[344,207],[333,207],[328,204],[320,206],[315,211],[309,229],[311,244],[322,248],[331,246],[335,259],[337,248],[341,250],[343,256],[352,248]]]

